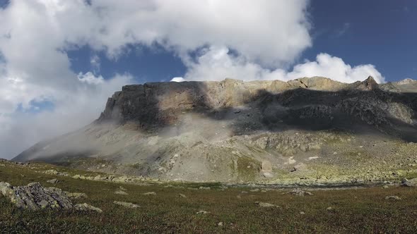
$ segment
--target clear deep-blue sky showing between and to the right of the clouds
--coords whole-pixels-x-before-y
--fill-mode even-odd
[[[312,47],[303,51],[298,62],[314,61],[317,54],[327,53],[351,66],[371,63],[387,81],[417,79],[417,1],[312,0],[308,12]],[[158,46],[129,46],[118,59],[107,58],[103,51],[88,46],[68,55],[76,73],[92,70],[90,58],[98,56],[98,74],[104,78],[130,73],[140,83],[168,81],[187,71],[175,53]]]

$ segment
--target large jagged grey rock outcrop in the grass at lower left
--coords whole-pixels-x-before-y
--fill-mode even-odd
[[[74,209],[77,211],[97,211],[101,209],[89,204],[72,204],[66,192],[56,187],[42,187],[40,183],[30,183],[26,186],[13,187],[0,182],[1,195],[11,200],[16,207],[30,210],[39,209]]]

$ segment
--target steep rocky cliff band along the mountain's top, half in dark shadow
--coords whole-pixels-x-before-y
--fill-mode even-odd
[[[416,99],[413,94],[381,90],[372,77],[353,84],[327,78],[300,78],[289,82],[226,79],[222,82],[146,83],[124,86],[122,92],[116,92],[107,100],[97,123],[134,122],[143,129],[153,129],[177,123],[184,112],[220,113],[242,106],[254,106],[262,111],[264,123],[301,118],[305,123],[300,124],[308,125],[308,119],[314,119],[315,123],[331,119],[337,125],[334,118],[339,116],[382,129],[397,121],[413,124]],[[271,112],[277,112],[276,116]],[[312,128],[315,123],[311,123]]]

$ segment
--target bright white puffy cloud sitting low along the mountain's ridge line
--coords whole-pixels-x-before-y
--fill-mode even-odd
[[[323,76],[340,82],[365,80],[372,75],[379,83],[384,77],[370,64],[350,66],[341,58],[329,54],[317,55],[316,61],[293,66],[293,70],[266,69],[258,63],[235,56],[226,47],[211,47],[202,52],[196,61],[187,63],[189,70],[184,80],[293,80],[302,77]]]

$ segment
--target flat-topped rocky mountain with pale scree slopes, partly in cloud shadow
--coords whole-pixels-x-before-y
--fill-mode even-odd
[[[328,78],[127,85],[15,161],[161,180],[360,183],[415,173],[417,85]]]

